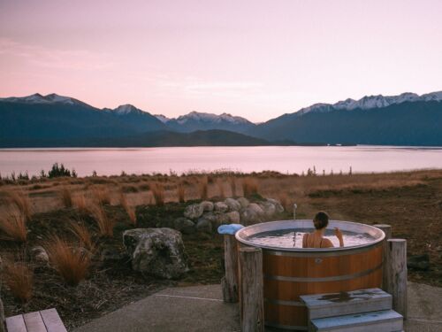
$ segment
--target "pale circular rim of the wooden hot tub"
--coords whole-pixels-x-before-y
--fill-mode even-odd
[[[260,224],[255,224],[255,225],[250,225],[247,226],[245,228],[241,228],[238,232],[236,232],[235,234],[235,238],[238,242],[249,245],[249,246],[253,246],[253,247],[257,247],[257,248],[262,248],[264,252],[266,253],[270,253],[273,255],[288,255],[291,256],[293,254],[297,255],[297,254],[324,254],[327,255],[327,253],[344,253],[346,251],[350,251],[351,253],[355,253],[355,251],[365,251],[366,249],[370,249],[372,247],[376,247],[378,245],[380,245],[381,243],[384,242],[385,240],[385,232],[377,227],[374,227],[372,225],[367,225],[367,224],[362,224],[360,222],[354,222],[354,221],[346,221],[346,220],[330,220],[331,222],[339,222],[339,223],[343,223],[343,224],[356,224],[359,226],[362,226],[362,228],[376,228],[377,232],[380,232],[380,237],[377,238],[376,240],[370,242],[370,243],[364,243],[364,244],[360,244],[360,245],[351,245],[351,246],[347,246],[347,247],[333,247],[333,248],[284,248],[284,247],[272,247],[269,245],[261,245],[261,244],[257,244],[257,243],[251,243],[248,240],[245,240],[244,238],[240,237],[240,235],[242,233],[244,233],[244,231],[248,228],[254,228],[257,227],[258,225],[263,225],[263,224],[277,224],[277,223],[283,223],[283,222],[295,222],[295,221],[309,221],[312,222],[312,220],[274,220],[274,221],[267,221],[267,222],[263,222]],[[348,252],[348,253],[350,253]],[[347,253],[347,252],[346,252]]]

